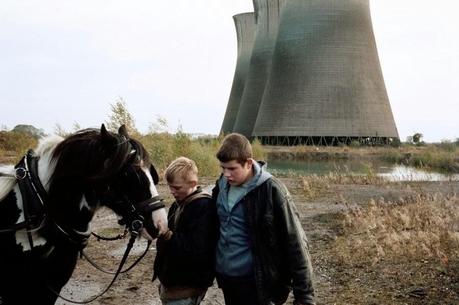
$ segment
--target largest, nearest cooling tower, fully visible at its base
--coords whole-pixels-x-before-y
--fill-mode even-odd
[[[398,138],[368,0],[287,1],[252,135],[272,144]]]

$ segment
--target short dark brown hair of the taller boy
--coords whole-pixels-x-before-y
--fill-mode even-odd
[[[230,133],[223,138],[217,152],[217,159],[220,162],[236,160],[244,164],[249,158],[252,158],[252,145],[246,137],[239,133]]]

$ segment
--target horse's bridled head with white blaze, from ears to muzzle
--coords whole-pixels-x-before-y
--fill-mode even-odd
[[[152,221],[152,212],[163,208],[164,204],[155,187],[158,173],[148,153],[139,141],[129,137],[124,125],[119,128],[118,134],[108,132],[102,125],[100,136],[109,154],[113,145],[124,146],[121,156],[119,152],[114,153],[114,160],[106,161],[107,167],[118,170],[107,179],[101,203],[120,215],[122,224],[131,227],[143,223],[149,235],[155,238],[158,231]],[[113,162],[119,163],[111,164]]]

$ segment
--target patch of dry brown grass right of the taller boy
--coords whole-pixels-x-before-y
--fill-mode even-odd
[[[349,208],[335,247],[345,264],[434,258],[447,266],[459,257],[459,198],[417,195]]]

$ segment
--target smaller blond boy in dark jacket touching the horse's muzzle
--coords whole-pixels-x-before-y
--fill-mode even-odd
[[[157,241],[154,276],[164,305],[197,305],[214,279],[215,210],[211,196],[198,186],[198,168],[180,157],[165,174],[175,202],[168,212],[169,231]]]

